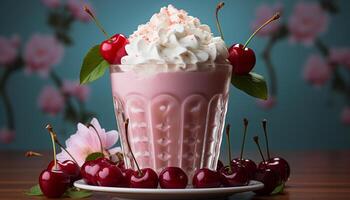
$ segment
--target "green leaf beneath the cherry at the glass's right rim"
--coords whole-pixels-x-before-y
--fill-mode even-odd
[[[267,84],[263,76],[250,72],[247,75],[232,75],[232,85],[250,96],[266,100]]]

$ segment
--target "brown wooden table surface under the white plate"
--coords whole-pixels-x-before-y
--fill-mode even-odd
[[[308,151],[282,154],[292,169],[283,194],[257,197],[252,192],[231,196],[230,200],[329,200],[350,199],[350,151]],[[252,154],[252,158],[257,158]],[[38,175],[51,159],[26,158],[23,152],[0,152],[0,200],[45,199],[28,197],[25,190],[37,184]],[[111,194],[94,193],[88,200],[113,199]]]

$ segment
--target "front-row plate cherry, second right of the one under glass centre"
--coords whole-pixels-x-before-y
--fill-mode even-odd
[[[226,166],[220,170],[221,183],[226,187],[248,185],[248,173],[243,165]]]

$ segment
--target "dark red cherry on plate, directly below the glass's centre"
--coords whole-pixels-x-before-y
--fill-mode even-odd
[[[166,167],[159,174],[161,188],[183,189],[186,188],[187,182],[186,173],[179,167]]]

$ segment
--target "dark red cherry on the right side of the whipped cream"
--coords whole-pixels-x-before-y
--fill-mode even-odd
[[[256,62],[254,51],[248,47],[243,47],[242,44],[234,44],[229,48],[228,60],[233,67],[233,74],[236,75],[248,74],[254,68]]]

